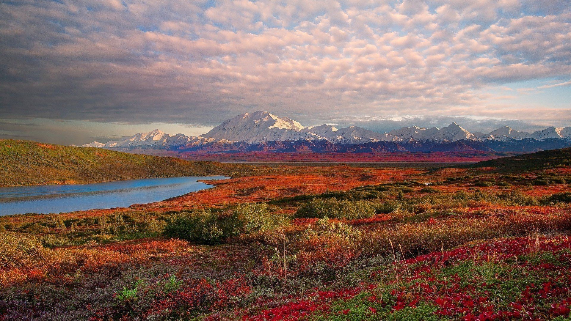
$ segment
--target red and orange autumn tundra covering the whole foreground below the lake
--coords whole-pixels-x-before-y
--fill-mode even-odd
[[[570,159],[260,169],[159,204],[2,216],[0,319],[571,320]]]

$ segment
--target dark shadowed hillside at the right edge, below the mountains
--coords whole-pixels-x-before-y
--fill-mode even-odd
[[[493,167],[494,169],[492,171],[494,172],[528,172],[570,165],[571,147],[565,149],[538,151],[533,154],[484,160],[483,162],[460,167],[475,169]]]

